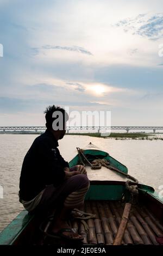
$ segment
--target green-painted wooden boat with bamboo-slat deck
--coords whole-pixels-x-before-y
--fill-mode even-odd
[[[128,169],[105,151],[90,143],[82,150],[88,162],[105,159],[110,163],[109,168],[102,166],[92,169],[86,164],[87,175],[90,179],[90,189],[86,194],[84,211],[95,214],[85,220],[89,229],[86,231],[83,222],[72,220],[72,228],[84,236],[85,245],[112,245],[126,202],[130,202],[131,192],[127,189],[126,176]],[[84,159],[83,159],[84,160]],[[71,161],[70,167],[81,163],[81,155],[77,154]],[[112,168],[110,168],[112,167]],[[120,170],[120,172],[116,172]],[[124,175],[123,175],[124,174]],[[134,183],[130,183],[135,185]],[[163,200],[159,198],[154,188],[144,184],[136,184],[139,191],[129,215],[122,245],[159,245],[163,237]],[[26,210],[13,220],[0,234],[0,245],[43,245],[66,244],[67,241],[52,239],[46,235],[49,221],[39,229],[42,217],[29,214]]]

